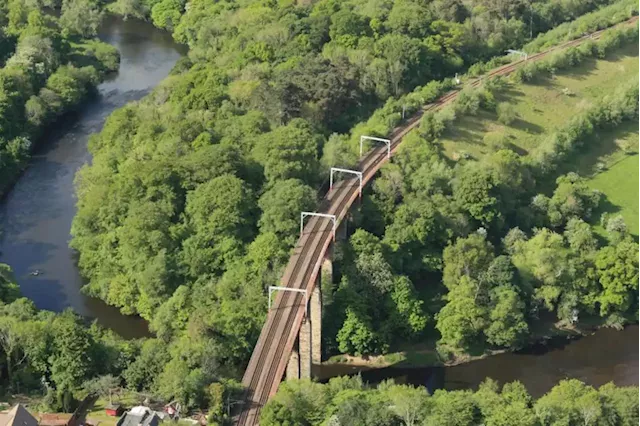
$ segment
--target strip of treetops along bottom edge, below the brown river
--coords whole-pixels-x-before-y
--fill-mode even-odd
[[[564,380],[532,398],[519,382],[487,380],[475,392],[427,390],[359,377],[327,384],[284,383],[262,411],[262,426],[631,426],[640,422],[640,388],[613,383],[594,389]]]

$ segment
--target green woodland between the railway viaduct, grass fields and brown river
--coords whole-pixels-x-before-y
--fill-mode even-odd
[[[513,78],[540,83],[550,70],[638,40],[640,27],[614,30]],[[559,173],[585,144],[597,143],[596,131],[638,120],[640,80],[621,84],[526,156],[509,141],[490,140],[489,155],[451,164],[437,138],[455,117],[485,110],[515,119],[510,105],[496,102],[505,83],[462,92],[450,108],[426,114],[382,168],[356,218],[361,229],[344,250],[327,347],[385,353],[424,340],[431,318],[447,360],[522,347],[539,321],[570,326],[600,317],[622,327],[640,319],[637,238],[621,215],[594,223],[604,195],[575,173]]]

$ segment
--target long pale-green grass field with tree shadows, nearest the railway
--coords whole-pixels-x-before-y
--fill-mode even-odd
[[[546,134],[638,74],[640,46],[633,45],[605,60],[587,60],[536,84],[512,84],[497,100],[513,104],[518,113],[515,122],[505,126],[495,113],[482,110],[475,116],[460,117],[441,138],[442,149],[450,158],[461,153],[479,158],[490,152],[485,136],[493,133],[502,135],[519,153],[526,154]]]

